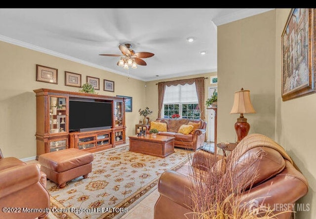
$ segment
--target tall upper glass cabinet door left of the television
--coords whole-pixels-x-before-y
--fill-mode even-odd
[[[50,96],[49,133],[67,132],[67,98]]]

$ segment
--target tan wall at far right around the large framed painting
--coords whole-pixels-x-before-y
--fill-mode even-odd
[[[282,101],[281,35],[290,9],[276,9],[276,141],[293,158],[309,182],[308,194],[300,200],[310,211],[299,211],[298,219],[314,219],[316,215],[316,94]],[[313,207],[312,207],[313,206]]]

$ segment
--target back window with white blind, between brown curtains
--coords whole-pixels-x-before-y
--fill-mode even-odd
[[[173,114],[186,119],[200,118],[195,83],[165,88],[162,115],[164,118],[171,118]]]

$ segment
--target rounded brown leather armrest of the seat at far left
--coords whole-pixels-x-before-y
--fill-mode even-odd
[[[0,171],[0,198],[40,181],[36,164],[11,167]]]

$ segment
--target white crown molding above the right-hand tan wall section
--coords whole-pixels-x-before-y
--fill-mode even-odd
[[[264,13],[264,12],[274,10],[274,9],[275,8],[247,8],[247,9],[240,10],[235,13],[228,14],[222,17],[215,17],[214,19],[212,19],[212,22],[216,26],[220,26],[223,24],[227,24],[233,21],[237,21],[246,17],[250,17],[253,15]]]

